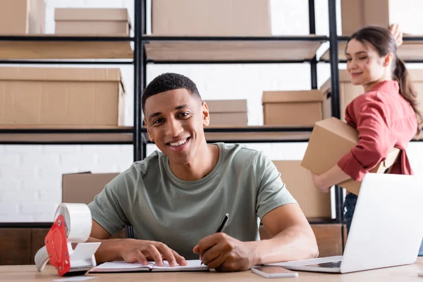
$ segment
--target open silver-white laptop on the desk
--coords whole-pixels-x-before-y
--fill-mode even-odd
[[[423,237],[422,180],[419,176],[367,173],[343,256],[269,265],[343,274],[413,264]]]

